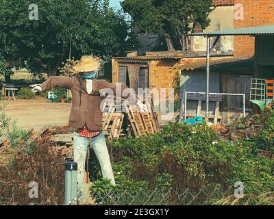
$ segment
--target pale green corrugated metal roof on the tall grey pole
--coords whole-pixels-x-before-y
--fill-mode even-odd
[[[242,28],[227,29],[222,31],[189,34],[189,36],[235,36],[235,35],[266,35],[266,34],[274,34],[274,25],[258,26],[258,27],[242,27]]]

